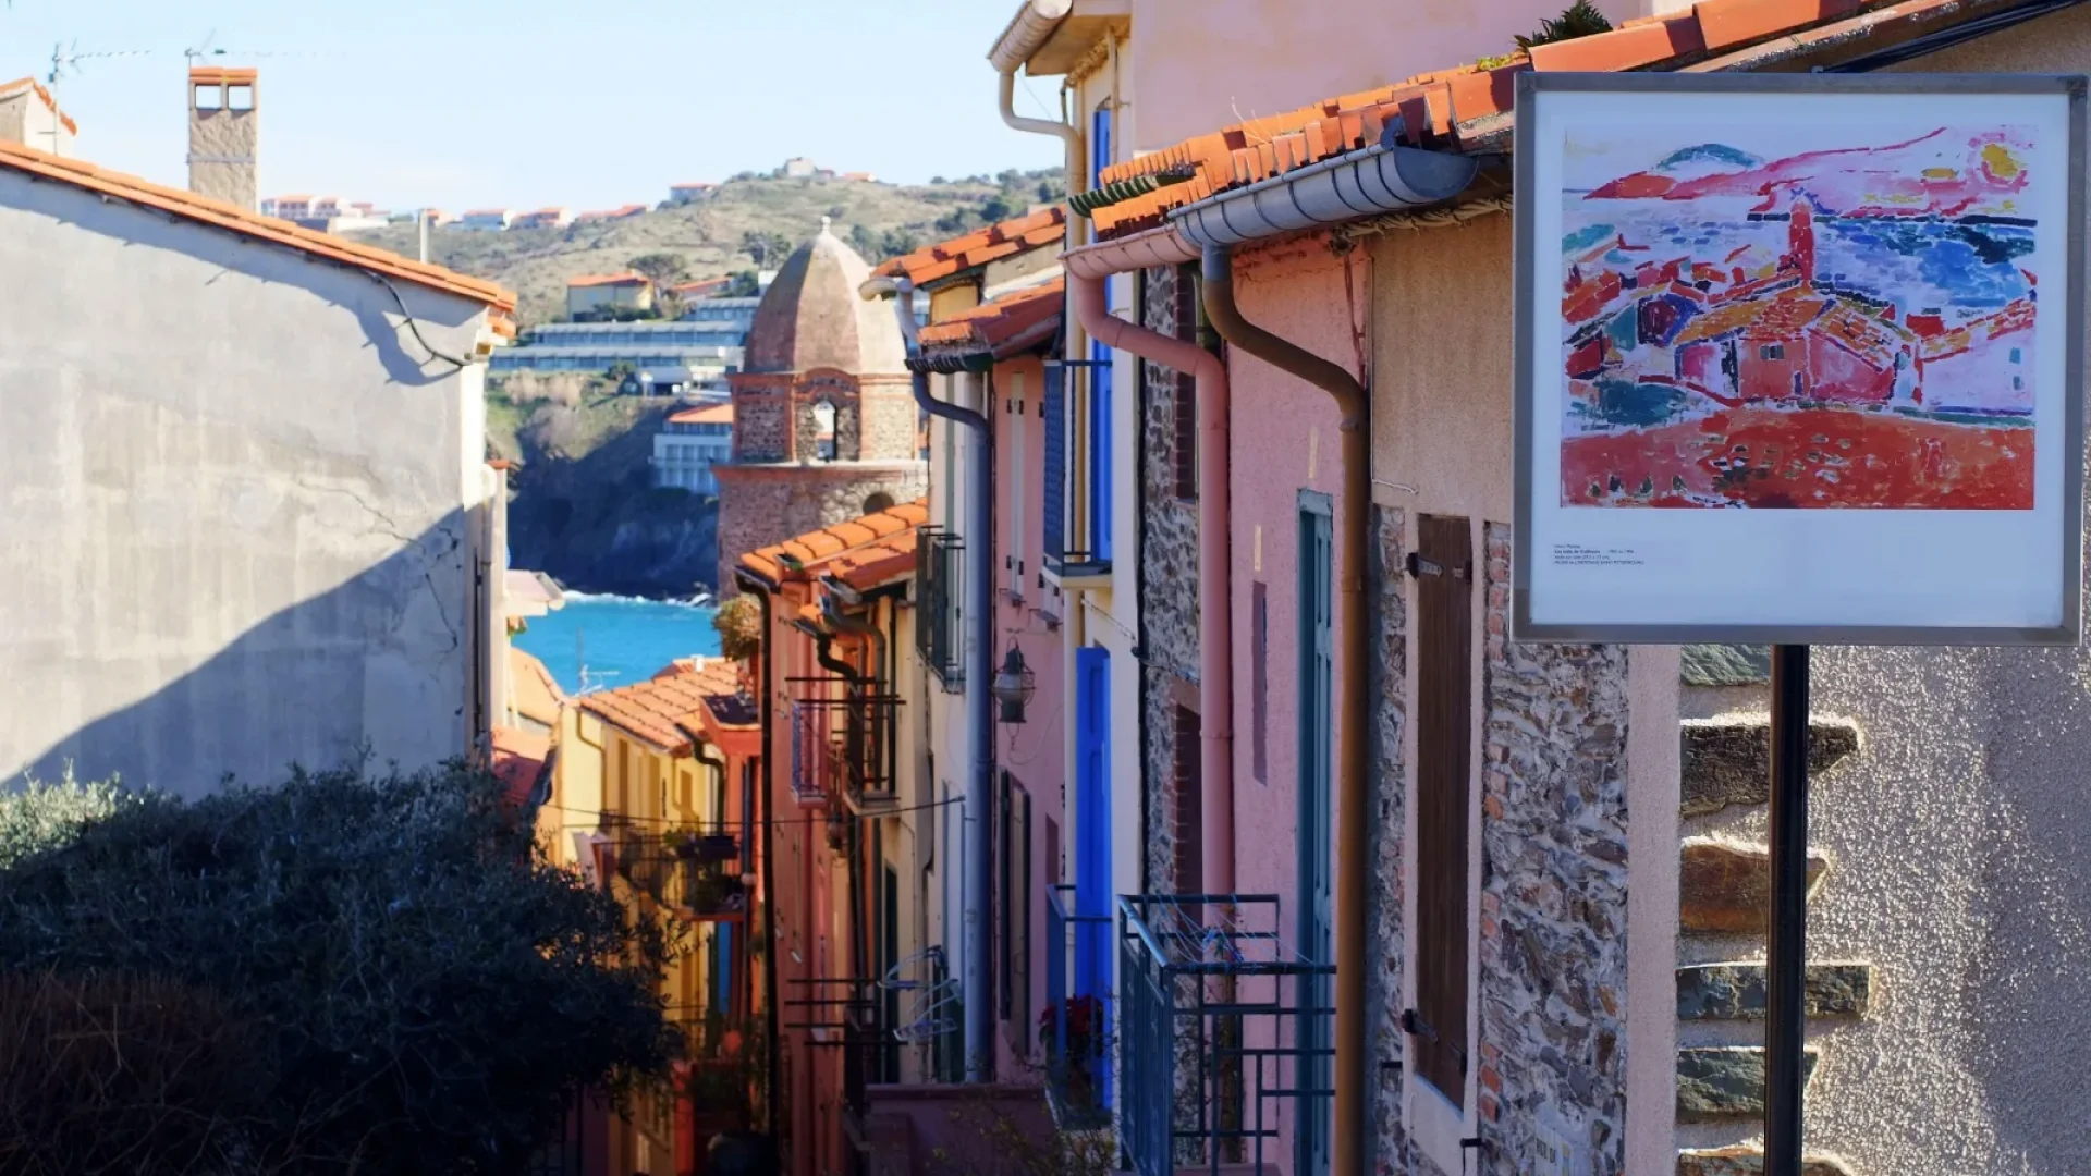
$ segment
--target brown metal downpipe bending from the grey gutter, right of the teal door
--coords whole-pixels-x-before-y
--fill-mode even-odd
[[[1342,582],[1338,586],[1336,619],[1342,626],[1336,682],[1342,709],[1336,720],[1336,1113],[1332,1143],[1334,1176],[1365,1176],[1365,942],[1370,931],[1365,889],[1370,881],[1365,812],[1372,804],[1372,778],[1365,757],[1365,732],[1372,726],[1372,699],[1365,682],[1372,672],[1365,640],[1368,536],[1372,515],[1372,402],[1365,387],[1338,364],[1280,339],[1242,318],[1234,303],[1234,262],[1225,247],[1204,249],[1204,316],[1219,337],[1242,352],[1294,375],[1330,393],[1342,412],[1342,488],[1338,494],[1342,534],[1338,552]]]

